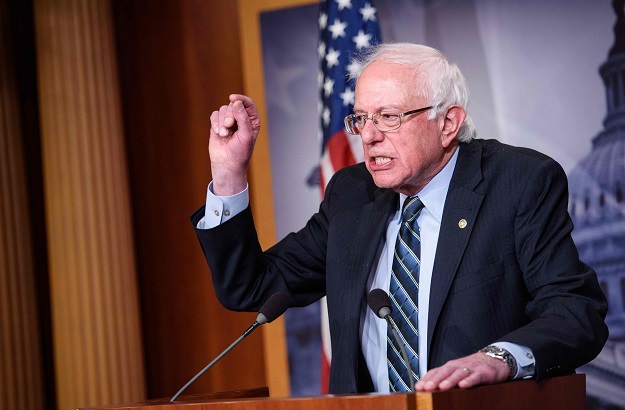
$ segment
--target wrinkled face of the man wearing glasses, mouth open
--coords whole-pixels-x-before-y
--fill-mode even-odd
[[[420,76],[403,65],[373,62],[356,84],[354,112],[371,117],[427,107],[431,102],[417,96],[419,81]],[[444,116],[428,120],[429,114],[407,115],[398,129],[386,132],[366,122],[361,132],[365,164],[378,187],[413,195],[445,166],[451,154],[450,141],[442,133]]]

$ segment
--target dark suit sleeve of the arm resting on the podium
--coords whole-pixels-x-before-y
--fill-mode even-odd
[[[532,349],[539,380],[589,362],[608,336],[607,302],[595,271],[579,259],[567,205],[564,171],[543,161],[523,189],[515,222],[531,322],[501,339]]]

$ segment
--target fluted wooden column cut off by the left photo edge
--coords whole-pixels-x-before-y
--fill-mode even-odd
[[[22,132],[7,4],[0,0],[0,408],[43,409]]]

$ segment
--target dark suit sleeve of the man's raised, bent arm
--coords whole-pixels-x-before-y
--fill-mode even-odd
[[[333,181],[326,198],[332,196]],[[222,305],[231,310],[256,311],[276,292],[288,293],[295,306],[323,297],[329,202],[322,202],[303,229],[265,252],[258,242],[250,207],[215,228],[195,228]],[[203,214],[204,208],[200,208],[191,216],[194,227]]]

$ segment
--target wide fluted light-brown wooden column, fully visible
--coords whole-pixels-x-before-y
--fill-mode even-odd
[[[108,0],[35,0],[59,409],[145,398]]]

